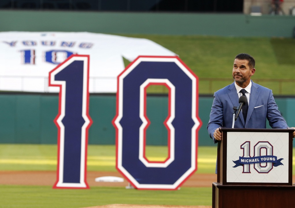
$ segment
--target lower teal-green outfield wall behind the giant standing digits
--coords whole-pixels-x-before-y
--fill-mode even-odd
[[[57,94],[0,94],[0,143],[56,144],[58,114]],[[93,124],[89,129],[89,144],[115,144],[112,119],[116,114],[115,95],[90,95],[89,114]],[[207,123],[213,96],[199,97],[199,145],[214,145],[208,136]],[[289,126],[295,126],[295,98],[276,97],[279,109]],[[147,97],[148,145],[167,145],[167,130],[163,125],[168,115],[167,96]],[[183,124],[185,125],[185,123]]]

